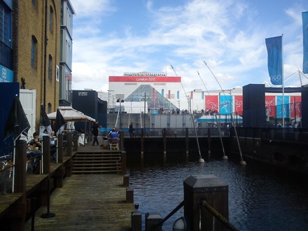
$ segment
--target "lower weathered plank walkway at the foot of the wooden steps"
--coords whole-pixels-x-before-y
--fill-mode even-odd
[[[55,217],[41,218],[47,213],[47,207],[41,207],[34,230],[131,230],[134,204],[125,200],[122,175],[72,175],[50,197],[50,213]],[[26,230],[31,230],[31,218]]]

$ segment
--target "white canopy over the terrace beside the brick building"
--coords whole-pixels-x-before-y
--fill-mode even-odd
[[[72,122],[93,121],[95,122],[93,118],[91,118],[90,116],[86,116],[81,111],[77,111],[73,109],[71,106],[59,106],[59,111],[62,114],[66,122],[67,121],[72,121]],[[50,120],[55,120],[57,116],[57,111],[49,113],[47,116]]]

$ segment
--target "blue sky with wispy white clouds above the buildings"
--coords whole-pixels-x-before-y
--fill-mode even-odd
[[[73,90],[106,92],[109,76],[141,71],[181,76],[186,92],[205,90],[202,80],[220,89],[214,76],[224,90],[270,83],[265,38],[281,34],[285,85],[300,86],[288,76],[302,71],[307,0],[70,1]]]

